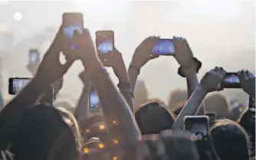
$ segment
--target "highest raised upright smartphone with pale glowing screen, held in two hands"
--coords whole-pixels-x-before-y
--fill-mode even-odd
[[[83,33],[84,16],[82,13],[64,13],[62,15],[62,25],[64,30],[64,49],[74,50],[77,49],[77,44],[74,42],[74,31]]]

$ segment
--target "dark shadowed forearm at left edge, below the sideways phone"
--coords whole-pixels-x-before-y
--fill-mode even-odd
[[[36,80],[31,80],[21,93],[2,109],[0,113],[0,150],[6,149],[9,145],[21,117],[38,100],[44,88],[44,85]]]

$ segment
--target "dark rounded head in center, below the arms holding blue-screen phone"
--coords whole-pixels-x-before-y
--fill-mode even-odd
[[[174,116],[159,101],[143,104],[135,113],[135,119],[143,135],[158,134],[162,130],[171,129]]]

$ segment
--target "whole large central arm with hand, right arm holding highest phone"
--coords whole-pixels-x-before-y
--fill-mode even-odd
[[[89,31],[85,29],[84,35],[77,32],[76,36],[78,47],[82,51],[78,55],[80,55],[84,67],[90,72],[92,83],[100,97],[107,128],[111,136],[117,140],[114,142],[136,142],[140,132],[133,118],[133,113],[98,60]],[[111,127],[113,125],[117,126]]]

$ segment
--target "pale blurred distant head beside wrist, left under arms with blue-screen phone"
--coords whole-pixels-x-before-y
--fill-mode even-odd
[[[143,103],[146,103],[146,101],[149,98],[149,91],[146,88],[146,83],[143,80],[137,80],[136,86],[134,89],[134,100],[133,100],[133,106],[135,107],[135,110],[139,109],[139,106]]]

